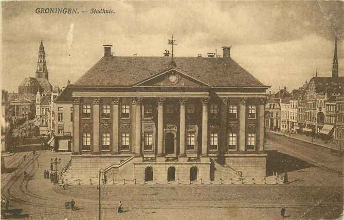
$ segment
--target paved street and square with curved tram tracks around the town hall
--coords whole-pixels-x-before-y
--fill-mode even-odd
[[[341,163],[341,157],[287,137],[267,134],[267,138],[267,147],[280,151],[275,152],[277,159],[269,159],[267,169],[286,169],[288,185],[103,185],[103,219],[280,219],[282,206],[290,215],[287,219],[338,217],[342,212],[342,177],[325,167],[339,169],[336,163]],[[24,219],[97,219],[96,185],[71,185],[64,190],[43,178],[51,157],[61,157],[60,169],[70,156],[37,153],[20,152],[5,158],[8,172],[2,174],[2,194],[11,199],[10,209],[22,209]],[[24,171],[29,179],[24,179]],[[64,207],[72,198],[78,209],[74,212]],[[116,212],[119,201],[126,211],[122,214]]]

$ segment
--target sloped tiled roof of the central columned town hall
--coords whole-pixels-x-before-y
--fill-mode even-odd
[[[132,86],[171,67],[172,58],[104,56],[74,86]],[[231,58],[175,57],[175,68],[213,87],[266,87]]]

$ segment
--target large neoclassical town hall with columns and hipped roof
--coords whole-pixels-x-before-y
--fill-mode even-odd
[[[69,178],[200,181],[265,177],[268,86],[230,57],[104,56],[73,98]],[[85,184],[87,184],[85,182]]]

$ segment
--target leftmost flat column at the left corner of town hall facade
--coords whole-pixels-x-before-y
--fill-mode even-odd
[[[80,98],[73,103],[73,149],[72,154],[80,153]]]

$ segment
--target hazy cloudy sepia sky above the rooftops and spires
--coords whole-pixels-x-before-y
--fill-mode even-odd
[[[43,40],[52,86],[73,84],[113,45],[115,56],[231,57],[272,91],[297,89],[315,75],[331,76],[335,36],[344,76],[344,2],[112,1],[2,2],[2,88],[17,92],[34,77]],[[36,8],[78,8],[79,14],[38,14]],[[90,14],[113,9],[114,14]],[[81,11],[88,11],[81,13]]]

